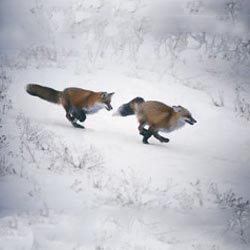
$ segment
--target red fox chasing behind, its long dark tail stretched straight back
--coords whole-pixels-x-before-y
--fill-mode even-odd
[[[77,123],[77,120],[84,122],[86,114],[96,113],[102,108],[112,110],[111,98],[114,95],[114,92],[94,92],[80,88],[66,88],[63,91],[57,91],[37,84],[28,84],[26,91],[30,95],[38,96],[48,102],[61,104],[66,111],[67,119],[76,128],[84,128]]]

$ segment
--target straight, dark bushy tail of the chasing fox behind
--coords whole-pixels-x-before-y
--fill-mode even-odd
[[[60,104],[62,92],[52,88],[43,87],[38,84],[28,84],[26,91],[30,95],[38,96],[48,102]]]

